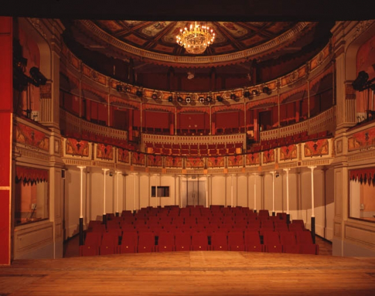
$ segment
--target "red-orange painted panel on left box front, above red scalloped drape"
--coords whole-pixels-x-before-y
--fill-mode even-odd
[[[22,123],[17,123],[15,133],[17,143],[49,151],[49,137],[45,133]]]

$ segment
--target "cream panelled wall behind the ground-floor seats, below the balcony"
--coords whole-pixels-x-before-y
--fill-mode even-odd
[[[275,178],[275,212],[287,212],[286,173],[279,171]],[[148,173],[129,173],[119,175],[118,211],[138,210],[147,206],[180,205],[181,190],[186,181],[184,176],[152,175]],[[206,182],[206,176],[199,180]],[[209,205],[241,205],[255,208],[254,178],[256,186],[256,208],[272,212],[272,175],[218,175],[209,176],[207,183]],[[169,197],[151,197],[151,187],[169,186]],[[101,169],[88,169],[83,173],[83,216],[85,224],[93,219],[102,219],[104,178]],[[78,233],[80,171],[67,170],[65,178],[65,231],[66,237]],[[116,176],[106,173],[106,213],[116,210]],[[314,214],[318,235],[330,240],[333,236],[333,170],[314,170]],[[311,173],[310,169],[301,172],[289,171],[289,214],[291,219],[303,219],[310,228],[311,219]]]

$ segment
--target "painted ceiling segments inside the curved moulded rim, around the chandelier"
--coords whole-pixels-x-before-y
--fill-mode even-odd
[[[109,35],[159,54],[187,55],[177,45],[176,36],[180,29],[191,22],[144,22],[129,20],[96,20],[95,26]],[[296,22],[198,22],[214,29],[215,42],[204,55],[230,54],[255,47],[285,33],[296,26]]]

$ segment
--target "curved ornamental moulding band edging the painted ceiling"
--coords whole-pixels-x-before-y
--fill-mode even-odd
[[[129,54],[136,56],[142,56],[146,59],[152,59],[160,61],[163,63],[179,63],[179,64],[207,64],[207,63],[224,63],[228,61],[237,61],[240,59],[249,59],[252,56],[257,56],[267,52],[275,47],[280,47],[282,43],[289,42],[296,38],[296,35],[301,33],[306,27],[308,27],[311,22],[298,22],[294,28],[282,33],[280,36],[269,40],[261,45],[245,49],[241,52],[233,52],[231,54],[219,54],[216,56],[173,56],[168,54],[159,54],[157,52],[150,52],[139,47],[131,46],[125,42],[121,42],[117,38],[111,36],[109,33],[106,33],[102,29],[99,29],[93,22],[90,20],[81,20],[80,24],[84,26],[88,31],[95,34],[98,38],[109,43],[114,47],[118,47]]]

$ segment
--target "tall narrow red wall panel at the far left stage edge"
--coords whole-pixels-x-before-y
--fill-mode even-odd
[[[10,193],[12,147],[12,17],[0,17],[0,265],[10,265]]]

